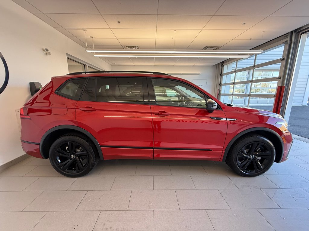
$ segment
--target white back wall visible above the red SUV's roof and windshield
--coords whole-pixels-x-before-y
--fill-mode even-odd
[[[157,71],[167,74],[176,73],[200,73],[200,75],[173,75],[192,81],[192,79],[206,79],[207,84],[205,90],[210,94],[217,95],[216,84],[217,66],[112,66],[113,71]]]

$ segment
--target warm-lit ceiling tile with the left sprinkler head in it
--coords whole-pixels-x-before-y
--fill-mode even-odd
[[[157,26],[155,14],[103,14],[102,16],[110,28],[155,29]]]

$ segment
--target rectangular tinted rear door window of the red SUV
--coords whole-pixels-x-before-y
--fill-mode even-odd
[[[100,102],[144,103],[142,78],[98,78],[96,100]]]

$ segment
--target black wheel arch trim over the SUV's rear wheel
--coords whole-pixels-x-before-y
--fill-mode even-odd
[[[91,133],[86,131],[85,129],[80,128],[78,126],[74,126],[74,125],[59,125],[59,126],[51,128],[47,132],[45,132],[45,134],[42,136],[42,139],[40,141],[40,154],[43,157],[43,159],[46,159],[46,158],[44,158],[44,155],[43,155],[43,142],[44,142],[45,138],[50,133],[57,131],[57,130],[60,130],[60,129],[73,129],[73,130],[76,130],[76,131],[81,132],[84,135],[86,135],[95,144],[95,147],[96,147],[96,149],[98,150],[98,153],[99,153],[100,160],[104,160],[102,149],[99,145],[99,142],[95,139],[95,137],[92,136]]]

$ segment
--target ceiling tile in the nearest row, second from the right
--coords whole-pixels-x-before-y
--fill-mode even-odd
[[[268,16],[291,0],[226,0],[215,15]]]

